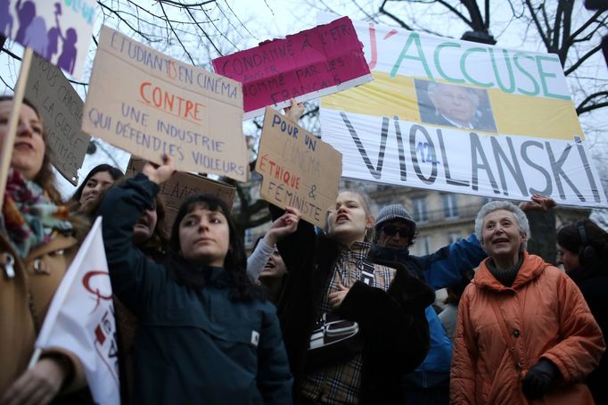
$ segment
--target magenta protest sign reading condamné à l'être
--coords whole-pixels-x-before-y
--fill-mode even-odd
[[[343,17],[285,39],[213,60],[213,69],[242,83],[245,119],[267,105],[285,107],[372,80],[352,21]]]

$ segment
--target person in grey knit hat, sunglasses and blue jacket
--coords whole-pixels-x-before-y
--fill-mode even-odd
[[[375,246],[370,256],[402,264],[413,276],[435,290],[458,283],[464,271],[476,268],[487,256],[474,234],[426,256],[409,254],[408,248],[415,240],[416,224],[400,204],[383,207],[374,227]],[[423,362],[403,377],[406,403],[448,404],[452,342],[432,305],[424,314],[429,323],[431,348]]]

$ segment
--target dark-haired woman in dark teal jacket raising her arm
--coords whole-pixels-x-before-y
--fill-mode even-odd
[[[168,259],[147,259],[133,227],[152,205],[171,160],[113,187],[99,210],[115,294],[138,320],[138,403],[292,402],[275,307],[246,274],[246,255],[224,202],[193,194],[171,230]]]

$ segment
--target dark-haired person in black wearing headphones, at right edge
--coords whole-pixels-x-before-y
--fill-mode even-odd
[[[608,234],[589,219],[567,225],[557,232],[558,263],[579,286],[589,310],[608,336]],[[585,383],[596,403],[608,403],[608,356]]]

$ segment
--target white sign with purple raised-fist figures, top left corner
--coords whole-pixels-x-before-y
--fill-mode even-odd
[[[95,0],[0,0],[0,33],[80,79]]]

